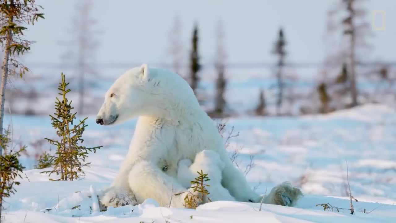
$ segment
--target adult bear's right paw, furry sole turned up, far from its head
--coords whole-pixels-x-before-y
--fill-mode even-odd
[[[295,206],[297,200],[303,195],[299,188],[291,186],[289,182],[284,182],[272,188],[266,196],[265,203],[278,204],[282,206]]]

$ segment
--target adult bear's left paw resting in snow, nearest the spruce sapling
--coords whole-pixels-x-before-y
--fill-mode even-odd
[[[106,207],[120,207],[125,205],[136,205],[135,195],[131,191],[110,187],[100,199],[100,202]]]

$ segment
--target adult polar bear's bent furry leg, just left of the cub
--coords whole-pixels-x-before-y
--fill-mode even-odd
[[[128,182],[139,203],[151,198],[160,206],[169,206],[171,201],[171,207],[184,208],[186,193],[182,192],[187,191],[187,188],[149,161],[136,163],[129,173]]]

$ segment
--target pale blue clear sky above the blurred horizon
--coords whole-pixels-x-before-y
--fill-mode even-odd
[[[340,0],[337,0],[340,1]],[[203,62],[211,63],[215,54],[215,26],[219,19],[225,25],[228,62],[257,63],[274,60],[270,54],[280,26],[288,41],[288,58],[292,62],[322,62],[326,54],[323,36],[326,11],[335,0],[95,0],[93,15],[103,33],[95,55],[99,63],[167,63],[169,30],[175,15],[182,23],[185,55],[190,48],[194,21],[200,28],[200,53]],[[76,1],[37,0],[44,7],[46,19],[29,27],[27,38],[37,41],[24,61],[60,63],[75,13]],[[367,19],[371,10],[385,10],[385,31],[373,31],[372,59],[395,61],[396,1],[368,0]],[[185,61],[187,62],[187,60]]]

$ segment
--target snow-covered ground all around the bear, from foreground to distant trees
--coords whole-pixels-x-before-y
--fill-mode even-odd
[[[240,169],[244,171],[253,158],[253,168],[247,173],[251,186],[264,194],[282,181],[291,181],[305,194],[297,207],[263,204],[259,211],[260,204],[211,202],[188,210],[156,207],[154,201],[147,200],[135,207],[98,212],[96,194],[115,177],[127,153],[135,121],[103,127],[89,117],[84,133],[86,145],[104,147],[90,154],[87,161],[92,164],[84,169],[84,179],[63,182],[48,181],[39,173],[42,170],[32,169],[34,152],[29,145],[55,135],[49,117],[8,115],[5,125],[13,127],[15,143],[29,146],[30,157],[22,158],[27,170],[16,187],[17,193],[5,202],[5,222],[396,222],[393,108],[366,105],[328,115],[223,121],[227,121],[228,131],[234,126],[234,132],[240,132],[230,139],[227,148],[230,156],[238,150],[235,162]],[[43,148],[51,147],[44,144]],[[352,195],[358,200],[353,202],[355,215],[335,208],[349,208],[346,163]],[[333,210],[317,206],[327,203]]]

